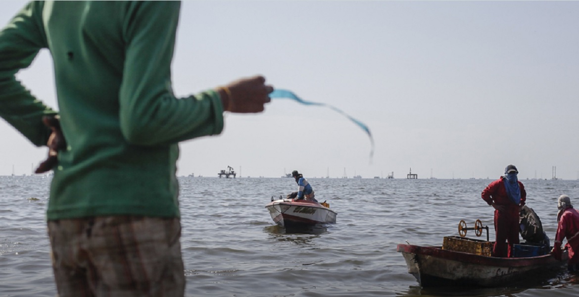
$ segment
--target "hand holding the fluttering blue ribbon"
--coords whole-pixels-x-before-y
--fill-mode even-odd
[[[219,87],[217,91],[224,111],[255,113],[262,112],[263,105],[271,101],[267,95],[272,93],[273,87],[265,85],[265,78],[258,75],[236,80],[225,87]]]

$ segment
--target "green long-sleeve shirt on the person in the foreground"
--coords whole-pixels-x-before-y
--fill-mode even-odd
[[[60,115],[47,218],[178,217],[178,142],[223,129],[219,94],[176,98],[171,60],[179,2],[31,2],[0,31],[0,116],[35,145]],[[52,54],[59,111],[15,74]]]

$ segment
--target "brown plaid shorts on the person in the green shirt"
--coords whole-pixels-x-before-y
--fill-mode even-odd
[[[184,296],[178,218],[61,219],[48,234],[60,297]]]

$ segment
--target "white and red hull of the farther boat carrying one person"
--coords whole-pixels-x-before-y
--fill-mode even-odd
[[[273,200],[265,206],[277,225],[296,227],[335,223],[336,212],[314,201]]]

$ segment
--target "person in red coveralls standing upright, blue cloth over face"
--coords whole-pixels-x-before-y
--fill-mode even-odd
[[[505,175],[491,182],[481,194],[482,199],[494,207],[493,256],[496,257],[511,257],[512,244],[519,243],[519,212],[525,205],[527,192],[516,177],[518,173],[514,165],[507,166]]]

